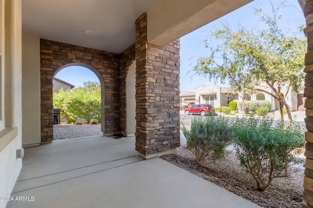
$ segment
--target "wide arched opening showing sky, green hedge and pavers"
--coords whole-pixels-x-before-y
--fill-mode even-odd
[[[99,84],[100,84],[100,89],[99,89]],[[64,89],[64,91],[75,87],[74,89],[71,90],[72,95],[73,94],[74,95],[78,94],[78,95],[77,97],[75,97],[75,100],[73,99],[73,102],[77,101],[78,102],[77,104],[82,105],[82,106],[74,107],[74,109],[76,108],[78,112],[83,113],[82,116],[78,117],[78,115],[75,115],[70,118],[68,116],[70,113],[68,113],[67,116],[64,117],[66,118],[66,120],[64,120],[65,123],[70,121],[69,123],[72,123],[72,124],[73,123],[97,124],[98,122],[101,122],[101,124],[93,125],[93,126],[90,126],[90,125],[72,126],[71,128],[75,128],[75,132],[66,131],[69,128],[68,127],[66,128],[63,125],[60,125],[60,126],[54,125],[54,128],[53,128],[54,139],[103,135],[105,131],[105,128],[104,128],[105,126],[105,112],[104,112],[105,99],[104,99],[104,80],[101,74],[97,70],[95,70],[93,67],[87,64],[82,64],[82,63],[67,64],[61,67],[60,69],[58,69],[53,78],[53,93],[58,92],[58,89],[60,89],[61,87]],[[86,93],[85,90],[88,92]],[[64,95],[60,95],[61,97],[66,96],[66,94],[69,92],[62,92],[62,93]],[[57,96],[59,94],[53,94],[53,95]],[[82,96],[82,98],[79,98],[77,100],[77,98],[80,96]],[[88,98],[88,96],[90,97]],[[99,103],[99,99],[100,99],[100,103]],[[69,104],[69,106],[70,105],[71,104]],[[62,108],[60,104],[58,106],[56,105],[53,107]],[[61,111],[63,115],[65,115],[66,114],[65,109],[67,109],[67,106],[64,106],[63,108],[64,109],[61,109]],[[72,110],[73,109],[71,110],[67,109],[67,112],[70,112]],[[54,124],[55,124],[55,118],[56,116],[54,114]]]

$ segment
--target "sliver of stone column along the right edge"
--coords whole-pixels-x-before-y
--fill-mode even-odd
[[[305,133],[306,163],[304,167],[304,202],[302,208],[313,208],[313,0],[308,0],[304,7],[304,16],[306,17],[307,28],[305,35],[308,38],[308,52],[305,57],[305,101],[306,118],[305,123],[308,132]]]

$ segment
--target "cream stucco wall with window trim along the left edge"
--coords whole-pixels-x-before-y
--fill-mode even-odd
[[[1,105],[5,105],[1,122],[5,129],[0,129],[0,196],[10,196],[22,169],[22,159],[16,158],[17,149],[22,147],[22,1],[6,0],[5,8],[4,0],[0,4],[1,33],[5,32],[1,39],[5,42],[5,49],[4,42],[1,44],[1,58],[5,55],[1,60]],[[0,201],[0,208],[6,204]]]

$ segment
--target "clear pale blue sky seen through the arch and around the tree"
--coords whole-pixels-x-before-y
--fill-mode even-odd
[[[278,0],[272,0],[273,3],[280,2]],[[282,19],[280,25],[286,35],[292,32],[298,32],[298,27],[301,24],[305,24],[305,18],[303,12],[299,6],[297,0],[286,0],[288,7],[281,11]],[[262,28],[264,23],[258,22],[255,14],[252,13],[253,8],[262,6],[264,11],[270,12],[269,0],[254,0],[244,7],[237,9],[236,11],[213,21],[192,33],[189,33],[180,38],[180,90],[181,91],[193,91],[196,87],[206,84],[214,84],[214,81],[210,81],[203,76],[193,76],[187,72],[196,65],[199,57],[205,57],[208,55],[208,50],[204,47],[204,40],[209,36],[216,28],[221,27],[220,21],[226,21],[233,30],[238,27],[238,22],[243,25],[247,30],[252,27]],[[289,30],[291,29],[291,31]],[[300,36],[304,37],[303,34]],[[64,81],[67,81],[75,86],[83,85],[85,81],[98,81],[99,79],[89,69],[84,67],[67,67],[61,70],[57,75]],[[219,83],[217,83],[219,85]]]

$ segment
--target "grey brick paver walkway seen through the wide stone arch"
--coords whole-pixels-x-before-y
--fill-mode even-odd
[[[53,138],[68,139],[86,136],[103,136],[101,132],[101,124],[96,125],[73,125],[60,124],[53,125]]]

